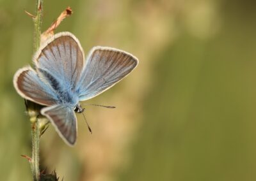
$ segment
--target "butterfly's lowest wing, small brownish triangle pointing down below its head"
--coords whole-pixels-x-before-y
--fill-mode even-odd
[[[68,144],[74,145],[77,138],[77,120],[74,110],[67,105],[54,105],[43,108],[42,115],[49,119],[61,138]]]

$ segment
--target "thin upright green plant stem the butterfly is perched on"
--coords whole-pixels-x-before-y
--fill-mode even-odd
[[[40,47],[41,40],[41,25],[42,25],[42,2],[43,0],[36,0],[36,17],[34,18],[35,33],[34,33],[34,53]],[[35,181],[40,180],[39,170],[39,141],[40,130],[37,117],[30,117],[31,121],[31,134],[32,134],[32,160],[31,170],[33,173],[33,179]]]

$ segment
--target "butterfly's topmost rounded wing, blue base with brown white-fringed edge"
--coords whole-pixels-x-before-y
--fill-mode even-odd
[[[84,64],[83,49],[70,33],[58,33],[35,55],[36,70],[54,89],[75,89]]]

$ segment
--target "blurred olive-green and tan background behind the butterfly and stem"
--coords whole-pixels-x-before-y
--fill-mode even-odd
[[[50,126],[40,166],[64,180],[256,180],[256,11],[246,0],[44,1],[43,31],[84,52],[95,45],[136,55],[138,68],[88,101],[91,135],[77,115],[71,148]],[[32,180],[30,124],[13,74],[31,63],[35,1],[0,0],[0,180]]]

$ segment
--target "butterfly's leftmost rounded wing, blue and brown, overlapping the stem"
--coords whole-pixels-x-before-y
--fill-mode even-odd
[[[54,90],[30,67],[19,69],[14,75],[13,84],[23,98],[40,105],[54,105],[58,99]]]

